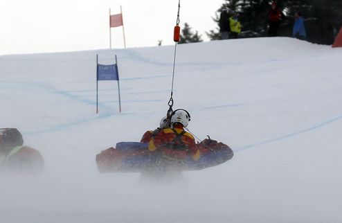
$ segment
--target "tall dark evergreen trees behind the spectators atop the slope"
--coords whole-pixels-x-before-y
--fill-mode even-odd
[[[217,10],[214,21],[219,21],[222,8],[240,13],[242,37],[267,36],[270,0],[226,0]],[[318,44],[332,44],[342,26],[342,0],[278,0],[277,5],[286,17],[282,19],[279,36],[291,37],[294,13],[301,12],[305,19],[307,40]],[[207,33],[210,39],[219,39],[219,30]]]

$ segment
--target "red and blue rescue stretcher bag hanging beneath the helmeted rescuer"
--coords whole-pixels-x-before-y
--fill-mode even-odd
[[[121,142],[116,144],[116,148],[109,148],[97,154],[96,164],[100,172],[145,172],[165,167],[186,171],[217,166],[233,157],[233,150],[228,145],[211,139],[197,143],[196,147],[200,152],[197,161],[192,157],[166,160],[163,152],[147,150],[147,143]]]

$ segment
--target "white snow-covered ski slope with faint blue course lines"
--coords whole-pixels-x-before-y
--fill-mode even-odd
[[[118,56],[115,81],[101,64]],[[230,161],[141,183],[95,157],[139,141],[168,109],[174,46],[0,56],[0,127],[45,159],[42,175],[0,175],[0,221],[342,222],[342,48],[285,37],[177,47],[174,109],[231,146]]]

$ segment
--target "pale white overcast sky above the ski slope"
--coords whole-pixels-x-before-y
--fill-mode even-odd
[[[211,17],[224,0],[181,0],[188,22],[205,41],[217,25]],[[109,8],[120,12],[127,47],[173,44],[178,0],[1,0],[0,55],[109,48]],[[112,46],[123,48],[122,27],[111,28]]]

